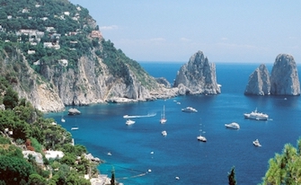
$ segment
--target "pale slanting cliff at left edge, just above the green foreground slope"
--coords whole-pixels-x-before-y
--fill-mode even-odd
[[[0,58],[0,74],[11,82],[20,98],[31,101],[41,111],[64,110],[57,89],[34,73],[19,49],[13,49],[11,53],[1,52],[4,57]]]

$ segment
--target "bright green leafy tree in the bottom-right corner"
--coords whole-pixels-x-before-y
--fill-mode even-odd
[[[286,144],[282,154],[275,154],[261,184],[301,184],[301,139],[297,148]]]

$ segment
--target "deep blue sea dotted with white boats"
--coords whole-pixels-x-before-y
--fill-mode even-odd
[[[184,63],[140,64],[150,75],[164,76],[173,83]],[[60,122],[62,113],[46,117],[53,117],[70,131],[75,144],[85,145],[89,153],[106,161],[99,166],[100,172],[111,177],[114,168],[117,180],[125,185],[227,184],[227,174],[233,166],[238,184],[258,184],[269,167],[269,159],[281,153],[287,143],[296,146],[301,135],[299,96],[243,95],[249,75],[259,65],[216,63],[217,83],[222,84],[219,95],[76,107],[82,114],[67,116],[65,111],[65,123]],[[272,64],[267,67],[271,71]],[[164,106],[167,122],[162,125],[159,119]],[[187,106],[199,111],[182,112]],[[270,119],[243,118],[243,113],[256,108],[269,114]],[[155,117],[135,119],[131,126],[123,119],[126,114],[154,112]],[[233,121],[240,124],[239,130],[225,128]],[[70,129],[75,126],[79,129]],[[203,135],[207,143],[197,140],[199,129],[206,132]],[[163,130],[167,137],[161,135]],[[256,138],[261,147],[252,145]]]

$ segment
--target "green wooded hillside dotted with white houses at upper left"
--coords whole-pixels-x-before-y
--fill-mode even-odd
[[[99,47],[97,40],[87,37],[98,26],[91,24],[93,18],[82,6],[67,0],[0,0],[0,4],[0,40],[3,40],[0,48],[8,54],[21,48],[31,67],[40,75],[47,66],[57,65],[58,73],[64,71],[64,67],[58,65],[59,59],[67,59],[67,67],[75,69],[79,57],[88,54],[93,46]],[[45,48],[45,42],[59,44],[60,48]],[[28,53],[29,50],[35,53]],[[40,65],[34,65],[37,61]]]

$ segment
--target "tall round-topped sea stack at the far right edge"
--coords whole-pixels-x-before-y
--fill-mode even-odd
[[[294,57],[279,54],[270,74],[270,94],[300,95],[300,83]]]

